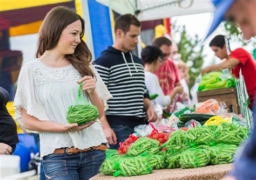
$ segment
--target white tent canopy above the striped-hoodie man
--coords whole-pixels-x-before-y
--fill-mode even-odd
[[[140,21],[213,12],[211,0],[96,0],[124,15],[131,13]]]

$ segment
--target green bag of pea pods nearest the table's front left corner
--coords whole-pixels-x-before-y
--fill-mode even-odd
[[[116,167],[118,170],[114,172],[114,177],[146,175],[152,171],[151,165],[141,157],[125,158],[125,161],[119,161]]]

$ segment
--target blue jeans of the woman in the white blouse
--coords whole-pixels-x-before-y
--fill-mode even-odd
[[[50,154],[43,157],[46,179],[89,179],[99,173],[105,151],[89,150],[74,154]]]

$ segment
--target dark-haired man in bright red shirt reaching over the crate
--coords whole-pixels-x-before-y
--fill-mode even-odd
[[[228,61],[228,55],[226,51],[225,36],[218,35],[215,36],[211,42],[210,47],[220,59],[226,59],[223,63],[207,66],[203,69],[202,74],[211,71],[224,70],[226,68],[232,67],[232,73],[235,78],[239,78],[239,72],[241,69],[242,75],[244,75],[246,89],[250,98],[249,107],[252,108],[254,95],[256,94],[256,63],[252,55],[242,48],[235,49],[231,51],[230,61]],[[255,102],[254,102],[255,103]]]

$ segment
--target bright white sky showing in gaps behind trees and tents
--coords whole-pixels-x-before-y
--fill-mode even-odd
[[[177,25],[185,25],[187,33],[190,34],[190,36],[195,36],[198,34],[198,37],[200,39],[203,39],[205,34],[207,33],[208,28],[210,27],[210,23],[213,19],[213,13],[199,13],[196,15],[186,15],[186,16],[176,16],[172,17],[172,22],[176,22]],[[220,63],[221,61],[214,57],[214,53],[211,50],[211,48],[208,46],[211,39],[216,36],[217,34],[224,34],[225,31],[223,27],[218,27],[216,31],[213,32],[213,34],[205,40],[205,42],[202,44],[204,45],[204,54],[206,55],[204,59],[204,65],[203,67],[210,64],[213,59],[215,60],[215,63]],[[178,35],[173,34],[174,40],[179,40]],[[37,46],[37,34],[29,34],[25,36],[17,36],[17,37],[11,37],[10,38],[10,44],[12,50],[20,50],[23,52],[23,63],[26,63],[30,60],[35,59],[35,51]],[[240,47],[240,44],[238,43],[230,43],[231,50],[234,50],[238,47]],[[253,47],[250,46],[246,48],[247,51],[252,51]]]

